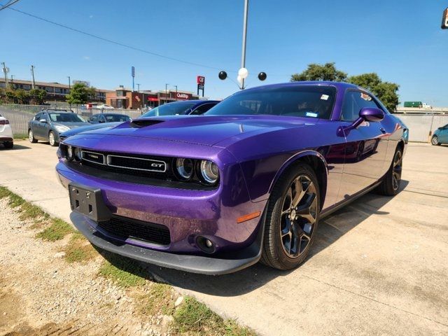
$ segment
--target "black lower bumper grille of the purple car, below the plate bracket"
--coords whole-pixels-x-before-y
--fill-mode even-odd
[[[98,226],[106,233],[123,240],[134,238],[159,245],[168,245],[171,242],[169,229],[165,225],[156,223],[113,216],[109,221],[99,222]]]

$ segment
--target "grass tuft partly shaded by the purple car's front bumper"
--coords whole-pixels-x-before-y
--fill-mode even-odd
[[[144,269],[134,260],[119,255],[110,255],[109,260],[113,263],[105,261],[99,268],[100,276],[111,279],[123,288],[142,286],[146,283]]]

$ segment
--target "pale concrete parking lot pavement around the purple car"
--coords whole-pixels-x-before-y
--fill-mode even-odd
[[[56,162],[56,148],[16,141],[0,149],[0,185],[69,221]],[[325,218],[291,272],[148,272],[261,335],[447,335],[447,167],[448,146],[409,144],[402,191],[365,195]]]

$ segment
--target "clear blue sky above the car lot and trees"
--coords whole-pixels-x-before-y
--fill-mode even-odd
[[[0,0],[6,3],[7,0]],[[243,0],[21,0],[13,8],[113,41],[228,71],[241,62]],[[440,29],[448,0],[251,0],[247,85],[286,82],[311,62],[336,62],[349,74],[377,72],[400,85],[400,101],[448,106],[448,30]],[[130,50],[36,20],[0,11],[0,62],[15,78],[66,83],[88,80],[113,89],[130,87],[136,67],[141,90],[196,90],[223,98],[238,90],[218,70]],[[2,73],[1,73],[2,74]],[[136,86],[137,89],[137,86]]]

